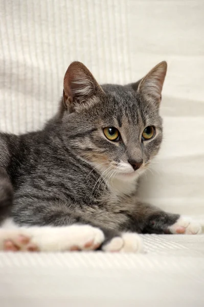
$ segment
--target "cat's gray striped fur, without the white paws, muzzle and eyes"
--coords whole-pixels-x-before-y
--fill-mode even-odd
[[[18,225],[91,224],[102,228],[106,238],[120,231],[167,233],[167,226],[179,215],[141,203],[138,177],[128,193],[117,193],[111,186],[120,161],[143,161],[145,170],[160,149],[163,129],[158,101],[138,90],[140,82],[100,87],[76,63],[71,64],[74,72],[68,69],[65,75],[58,113],[42,130],[20,136],[0,134],[2,220],[11,215]],[[77,87],[73,74],[84,84]],[[149,125],[156,127],[156,135],[142,142],[142,131]],[[107,140],[102,130],[107,126],[118,128],[123,141]],[[110,173],[104,170],[109,165],[114,167]]]

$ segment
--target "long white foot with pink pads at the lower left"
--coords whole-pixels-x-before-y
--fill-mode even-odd
[[[95,250],[103,241],[103,232],[89,225],[0,229],[0,249],[9,251]]]

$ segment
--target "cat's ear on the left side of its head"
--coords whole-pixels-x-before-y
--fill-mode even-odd
[[[75,105],[84,104],[89,98],[103,90],[90,71],[81,62],[75,61],[68,67],[64,76],[63,100],[71,112]]]

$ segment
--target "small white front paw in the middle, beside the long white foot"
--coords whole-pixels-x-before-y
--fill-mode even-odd
[[[143,250],[143,242],[137,233],[125,232],[121,237],[112,238],[102,249],[106,252],[139,253]]]

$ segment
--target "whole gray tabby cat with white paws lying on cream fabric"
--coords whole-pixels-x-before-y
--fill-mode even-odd
[[[42,130],[0,134],[0,249],[138,252],[137,233],[199,233],[137,198],[160,149],[167,63],[137,83],[100,86],[80,62]]]

